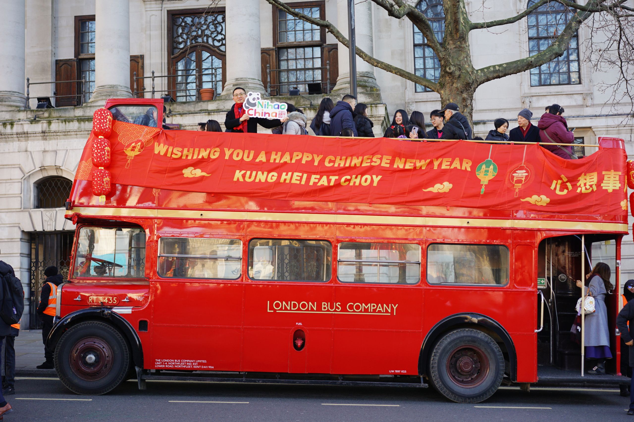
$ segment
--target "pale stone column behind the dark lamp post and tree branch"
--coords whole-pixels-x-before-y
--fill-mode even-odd
[[[337,28],[348,37],[348,4],[347,0],[337,1]],[[366,53],[374,56],[374,41],[372,38],[372,2],[361,1],[354,6],[356,45]],[[339,77],[333,92],[350,92],[350,59],[346,46],[337,43],[337,53],[339,56]],[[377,78],[374,75],[374,66],[365,60],[356,57],[357,65],[357,90],[358,92],[370,93],[380,89],[377,85]],[[379,96],[380,99],[380,96]],[[365,100],[364,100],[365,101]]]

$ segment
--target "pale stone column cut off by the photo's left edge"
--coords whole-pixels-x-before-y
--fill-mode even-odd
[[[24,107],[25,3],[4,1],[0,25],[0,110]]]

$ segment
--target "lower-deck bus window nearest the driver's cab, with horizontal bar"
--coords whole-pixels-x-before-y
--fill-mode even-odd
[[[178,278],[240,278],[242,241],[161,237],[159,275]]]

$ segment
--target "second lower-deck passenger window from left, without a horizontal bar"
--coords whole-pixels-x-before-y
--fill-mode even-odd
[[[327,282],[332,246],[323,240],[253,239],[249,242],[249,277],[280,282]]]

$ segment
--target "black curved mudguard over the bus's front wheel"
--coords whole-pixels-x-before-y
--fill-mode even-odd
[[[134,331],[132,325],[130,325],[130,323],[122,316],[112,311],[112,308],[110,307],[89,307],[87,309],[80,309],[79,311],[67,314],[57,321],[51,329],[48,338],[46,338],[47,347],[51,350],[55,350],[61,335],[68,330],[68,328],[87,320],[107,321],[119,328],[120,332],[127,339],[127,342],[131,347],[134,365],[139,368],[143,368],[143,347],[141,346],[141,339]]]

